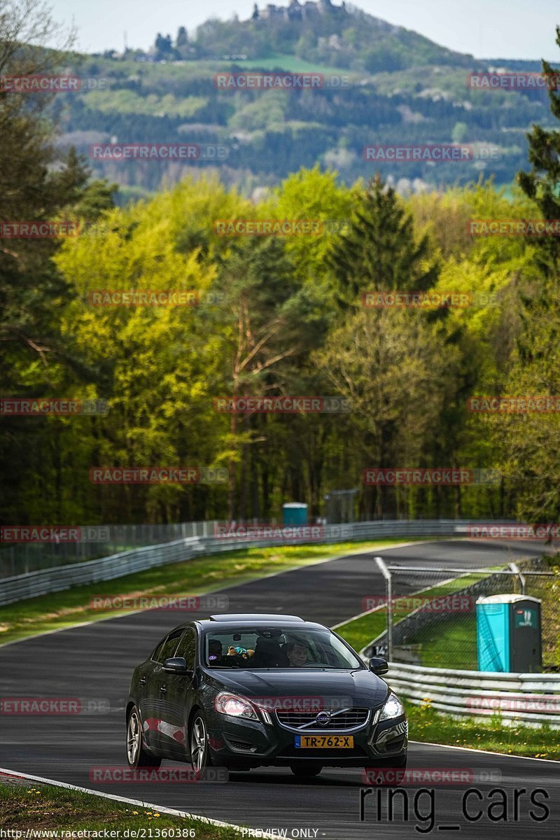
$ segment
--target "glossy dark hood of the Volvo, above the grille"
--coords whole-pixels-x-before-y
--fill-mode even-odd
[[[274,670],[220,670],[212,677],[222,684],[225,690],[233,691],[252,700],[270,698],[285,700],[303,699],[302,706],[322,705],[338,706],[380,706],[387,697],[388,687],[385,680],[379,679],[369,670],[353,671],[311,671],[304,669]],[[267,703],[268,705],[268,703]],[[299,706],[299,703],[296,703]]]

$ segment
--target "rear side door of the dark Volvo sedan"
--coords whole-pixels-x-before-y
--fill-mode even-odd
[[[142,727],[146,745],[158,752],[165,751],[167,739],[162,733],[162,724],[165,722],[167,712],[165,711],[167,686],[165,678],[168,676],[163,670],[165,659],[175,654],[175,648],[183,634],[182,629],[175,630],[162,639],[152,654],[152,667],[146,674],[144,687],[144,702],[140,706],[142,716]]]

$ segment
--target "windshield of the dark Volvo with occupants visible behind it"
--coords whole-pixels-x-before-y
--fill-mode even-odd
[[[204,638],[209,668],[356,669],[358,657],[327,628],[216,627]]]

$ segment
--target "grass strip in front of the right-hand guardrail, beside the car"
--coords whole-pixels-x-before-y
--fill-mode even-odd
[[[560,761],[558,730],[547,726],[505,726],[499,715],[479,722],[435,711],[429,701],[416,706],[404,701],[413,741],[444,743],[452,747],[487,749],[492,753]]]

